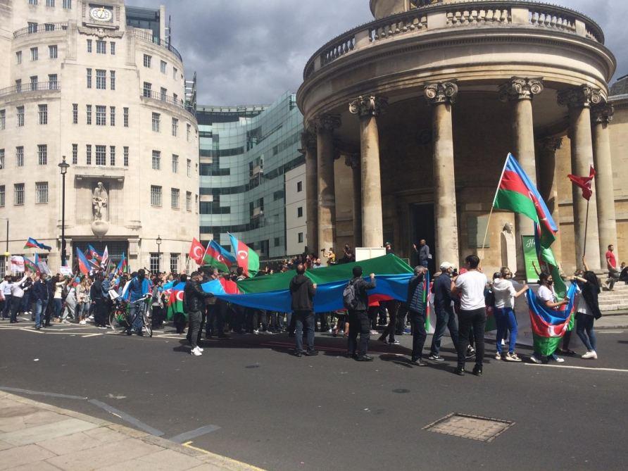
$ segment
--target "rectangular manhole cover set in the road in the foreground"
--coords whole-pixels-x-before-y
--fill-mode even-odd
[[[493,441],[513,425],[515,422],[510,420],[489,419],[477,415],[449,414],[436,422],[432,422],[427,427],[423,427],[423,429],[464,439]]]

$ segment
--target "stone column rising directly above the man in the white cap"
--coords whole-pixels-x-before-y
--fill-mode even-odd
[[[453,82],[438,82],[425,86],[425,98],[432,106],[436,266],[442,262],[453,263],[456,267],[459,265],[451,119],[451,108],[457,95],[458,85]]]

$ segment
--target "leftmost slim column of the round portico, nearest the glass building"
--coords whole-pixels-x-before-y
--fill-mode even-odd
[[[306,225],[308,251],[318,255],[318,170],[316,168],[316,134],[301,134],[301,153],[306,156]]]

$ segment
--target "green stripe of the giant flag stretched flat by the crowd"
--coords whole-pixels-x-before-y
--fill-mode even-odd
[[[389,254],[361,262],[307,270],[306,277],[317,284],[351,280],[353,278],[353,267],[356,265],[362,267],[363,276],[368,276],[370,273],[375,273],[375,275],[402,275],[413,272],[410,265],[401,260],[401,258]],[[293,277],[294,272],[276,273],[275,275],[250,278],[249,280],[237,282],[237,284],[242,293],[265,293],[286,289],[289,287],[290,280]]]

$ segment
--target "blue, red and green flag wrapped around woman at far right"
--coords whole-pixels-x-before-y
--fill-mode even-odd
[[[576,284],[572,283],[567,291],[569,303],[558,309],[544,306],[532,289],[526,297],[530,310],[530,325],[534,337],[534,351],[542,356],[549,356],[556,351],[565,332],[570,329],[575,310]]]

